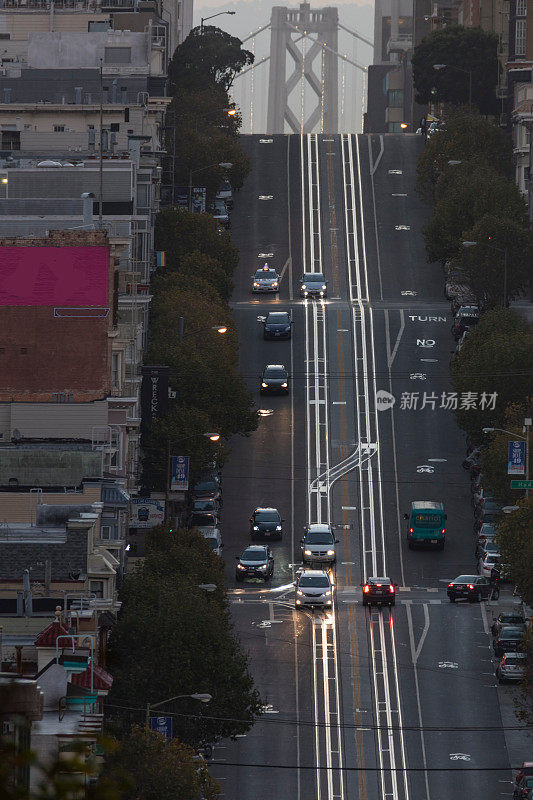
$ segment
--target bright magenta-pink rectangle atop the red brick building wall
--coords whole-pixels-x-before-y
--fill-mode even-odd
[[[0,247],[0,306],[109,305],[108,247]]]

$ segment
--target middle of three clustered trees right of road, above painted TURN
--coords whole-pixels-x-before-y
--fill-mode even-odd
[[[514,181],[469,162],[445,170],[435,187],[433,217],[424,228],[429,261],[462,259],[463,232],[485,214],[528,225],[527,205]]]

